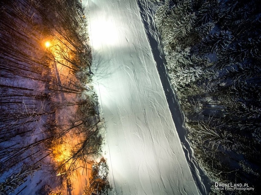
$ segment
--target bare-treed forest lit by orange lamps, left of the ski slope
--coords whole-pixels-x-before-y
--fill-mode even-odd
[[[0,194],[29,186],[35,194],[70,192],[87,167],[90,176],[105,168],[90,181],[106,191],[106,161],[90,165],[103,137],[81,3],[3,0],[0,7]],[[93,190],[85,186],[86,195]]]

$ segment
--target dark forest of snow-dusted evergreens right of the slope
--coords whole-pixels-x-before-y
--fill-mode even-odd
[[[215,190],[214,182],[260,185],[260,2],[157,2],[167,72],[210,194],[256,194]]]

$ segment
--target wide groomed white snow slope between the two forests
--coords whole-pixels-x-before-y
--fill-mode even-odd
[[[135,0],[89,0],[94,86],[108,137],[110,183],[124,195],[199,194]]]

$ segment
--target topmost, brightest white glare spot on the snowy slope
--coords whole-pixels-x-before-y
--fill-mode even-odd
[[[92,39],[99,40],[102,44],[115,45],[118,40],[117,29],[110,21],[97,21],[93,23],[91,28]]]

